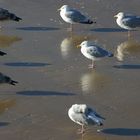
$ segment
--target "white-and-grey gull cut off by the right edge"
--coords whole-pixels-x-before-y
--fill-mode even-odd
[[[116,22],[121,28],[128,30],[128,36],[130,36],[130,30],[140,27],[140,16],[119,12],[114,17],[117,18]]]

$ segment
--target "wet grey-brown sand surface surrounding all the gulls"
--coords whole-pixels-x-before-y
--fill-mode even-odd
[[[127,4],[126,4],[127,3]],[[57,12],[69,4],[96,25],[74,25],[67,31]],[[0,0],[3,8],[23,18],[3,22],[0,33],[0,72],[19,83],[0,85],[2,140],[139,140],[140,139],[140,31],[131,39],[113,16],[119,11],[139,14],[139,0]],[[76,46],[96,40],[115,54],[88,69]],[[106,120],[103,131],[80,127],[67,115],[74,103],[93,106]]]

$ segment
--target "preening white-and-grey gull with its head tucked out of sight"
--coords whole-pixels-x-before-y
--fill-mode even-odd
[[[92,108],[88,107],[86,104],[74,104],[68,110],[69,118],[82,126],[80,133],[84,133],[85,125],[103,125],[104,117],[97,114]]]

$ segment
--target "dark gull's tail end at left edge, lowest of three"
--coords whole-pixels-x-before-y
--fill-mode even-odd
[[[10,85],[16,85],[18,82],[12,80],[9,76],[6,76],[0,72],[0,84],[10,84]]]

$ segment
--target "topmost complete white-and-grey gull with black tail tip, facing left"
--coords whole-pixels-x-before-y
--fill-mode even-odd
[[[65,22],[70,23],[71,30],[72,30],[72,24],[75,24],[75,23],[81,23],[81,24],[96,23],[96,22],[93,22],[88,17],[86,17],[85,15],[83,15],[80,11],[73,9],[69,7],[68,5],[63,5],[58,10],[60,11],[60,16],[62,17],[62,19]]]

